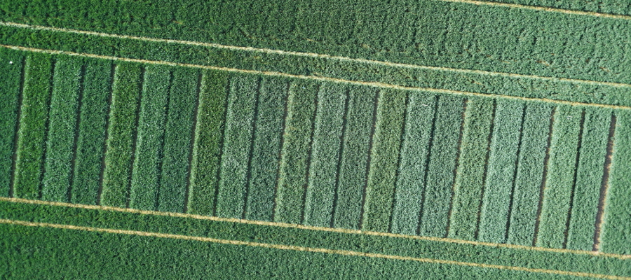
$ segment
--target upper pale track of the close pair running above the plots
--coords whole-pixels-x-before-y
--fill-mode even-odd
[[[468,1],[468,0],[440,0],[440,1],[452,1],[452,2],[462,2],[462,3],[476,3],[477,5],[491,5],[495,4],[494,2],[481,2],[481,1]],[[501,4],[501,3],[498,3]],[[501,4],[498,6],[511,6],[513,4]],[[522,7],[521,5],[513,5],[517,7]],[[523,6],[530,7],[530,6]],[[534,7],[536,8],[536,7]],[[541,8],[546,9],[546,8]],[[553,9],[554,10],[554,9]],[[588,12],[581,12],[588,13]],[[599,14],[602,15],[602,14]],[[627,17],[630,18],[631,17]],[[7,27],[18,27],[18,28],[26,28],[32,30],[43,30],[43,31],[55,31],[55,32],[66,32],[66,33],[74,33],[74,34],[83,34],[83,35],[91,35],[91,36],[100,36],[100,37],[109,37],[109,38],[124,38],[131,40],[139,40],[139,41],[149,41],[149,42],[158,42],[158,43],[176,43],[182,45],[198,45],[208,48],[222,48],[228,50],[243,50],[247,52],[262,52],[273,55],[294,55],[299,57],[314,57],[320,59],[333,59],[338,61],[345,62],[357,62],[364,64],[375,64],[381,66],[391,66],[398,68],[407,68],[407,69],[425,69],[425,70],[434,70],[434,71],[447,71],[454,73],[470,73],[470,74],[478,74],[478,75],[489,75],[489,76],[502,76],[502,77],[510,77],[510,78],[529,78],[533,80],[550,80],[553,82],[565,82],[565,83],[581,83],[587,85],[606,85],[612,87],[631,87],[631,84],[627,83],[611,83],[611,82],[601,82],[596,80],[581,80],[581,79],[573,79],[573,78],[555,78],[555,77],[546,77],[546,76],[536,76],[536,75],[523,75],[517,73],[504,73],[504,72],[494,72],[494,71],[482,71],[482,70],[470,70],[470,69],[457,69],[457,68],[449,68],[449,67],[438,67],[438,66],[424,66],[424,65],[416,65],[416,64],[405,64],[405,63],[395,63],[395,62],[384,62],[379,60],[370,60],[370,59],[360,59],[360,58],[351,58],[351,57],[339,57],[334,55],[324,55],[320,53],[314,52],[292,52],[287,50],[273,50],[269,48],[252,48],[252,47],[240,47],[236,45],[222,45],[218,43],[203,43],[196,41],[183,41],[183,40],[172,40],[172,39],[163,39],[163,38],[150,38],[150,37],[140,37],[140,36],[128,36],[128,35],[118,35],[118,34],[108,34],[102,32],[95,31],[83,31],[76,29],[65,29],[65,28],[57,28],[57,27],[45,27],[41,25],[25,25],[21,23],[15,22],[0,22],[1,26]]]

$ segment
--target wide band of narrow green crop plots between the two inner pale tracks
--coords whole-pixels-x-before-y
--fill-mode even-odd
[[[21,63],[20,52],[3,55]],[[62,55],[22,61],[2,84],[13,98],[2,109],[4,196],[626,250],[607,231],[628,211],[608,193],[625,191],[618,111]]]

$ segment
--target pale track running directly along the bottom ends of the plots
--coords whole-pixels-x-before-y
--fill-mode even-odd
[[[50,205],[50,206],[59,206],[59,207],[72,207],[72,208],[81,208],[81,209],[104,210],[104,211],[117,211],[117,212],[155,215],[155,216],[194,218],[198,220],[209,220],[209,221],[218,221],[218,222],[226,222],[226,223],[244,223],[244,224],[249,224],[249,225],[265,225],[265,226],[280,227],[280,228],[297,228],[301,230],[318,230],[318,231],[324,231],[324,232],[339,232],[339,233],[347,233],[347,234],[354,234],[354,235],[374,235],[374,236],[381,236],[381,237],[418,239],[418,240],[424,240],[424,241],[468,244],[468,245],[474,245],[474,246],[492,246],[492,247],[499,247],[499,248],[513,248],[513,249],[520,249],[520,250],[545,251],[545,252],[553,252],[553,253],[593,255],[596,257],[618,258],[621,260],[631,259],[631,255],[620,255],[620,254],[614,254],[614,253],[602,253],[602,252],[595,252],[595,251],[531,247],[531,246],[522,246],[522,245],[513,245],[513,244],[499,244],[499,243],[491,243],[491,242],[468,241],[468,240],[452,239],[452,238],[422,237],[422,236],[416,236],[416,235],[399,235],[399,234],[388,233],[388,232],[348,230],[344,228],[324,228],[324,227],[315,227],[311,225],[297,225],[297,224],[292,224],[292,223],[276,223],[276,222],[266,222],[266,221],[250,221],[250,220],[243,220],[243,219],[237,219],[237,218],[219,218],[215,216],[202,216],[202,215],[196,215],[196,214],[159,212],[159,211],[107,207],[107,206],[97,206],[97,205],[87,205],[87,204],[72,204],[72,203],[66,203],[66,202],[47,202],[43,200],[25,200],[23,198],[15,198],[15,197],[0,197],[0,201],[27,203],[27,204],[41,204],[41,205]]]

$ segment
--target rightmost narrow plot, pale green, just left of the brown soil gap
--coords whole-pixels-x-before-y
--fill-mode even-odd
[[[594,245],[598,200],[603,176],[611,111],[585,108],[574,200],[567,235],[569,249],[589,251]]]

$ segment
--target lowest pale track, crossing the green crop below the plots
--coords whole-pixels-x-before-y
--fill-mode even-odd
[[[90,228],[90,227],[81,227],[77,225],[60,225],[60,224],[55,224],[55,223],[32,223],[32,222],[27,222],[27,221],[13,221],[13,220],[6,220],[6,219],[0,219],[0,223],[9,224],[9,225],[23,225],[23,226],[29,226],[29,227],[60,228],[64,230],[107,232],[107,233],[114,233],[118,235],[137,235],[137,236],[143,236],[143,237],[183,239],[183,240],[191,240],[191,241],[212,242],[212,243],[218,243],[218,244],[273,248],[273,249],[278,249],[278,250],[304,251],[304,252],[311,252],[311,253],[353,255],[353,256],[365,257],[365,258],[386,258],[386,259],[392,259],[392,260],[409,260],[409,261],[414,261],[414,262],[437,263],[441,265],[460,265],[460,266],[468,266],[468,267],[507,269],[507,270],[513,270],[513,271],[521,271],[521,272],[559,274],[559,275],[590,277],[590,278],[599,278],[599,279],[631,280],[631,277],[614,276],[614,275],[606,275],[606,274],[595,274],[595,273],[586,273],[586,272],[568,272],[568,271],[562,271],[562,270],[528,268],[528,267],[513,267],[513,266],[508,266],[508,265],[487,265],[484,263],[459,262],[456,260],[437,260],[433,258],[412,258],[412,257],[406,257],[406,256],[400,256],[400,255],[386,255],[386,254],[381,254],[381,253],[364,253],[364,252],[358,252],[358,251],[335,250],[335,249],[327,249],[327,248],[311,248],[311,247],[282,245],[282,244],[269,244],[269,243],[259,243],[259,242],[249,242],[249,241],[239,241],[239,240],[229,240],[229,239],[216,239],[216,238],[210,238],[210,237],[195,237],[195,236],[189,236],[189,235],[171,235],[168,233],[141,232],[137,230],[113,230],[109,228]]]

